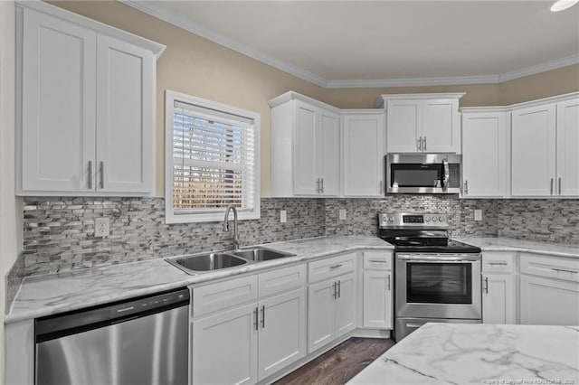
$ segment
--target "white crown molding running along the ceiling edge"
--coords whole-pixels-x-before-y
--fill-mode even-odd
[[[382,80],[326,80],[317,74],[308,70],[303,70],[297,66],[281,61],[266,53],[253,49],[252,47],[238,42],[221,33],[216,33],[199,23],[191,22],[179,14],[166,12],[166,10],[157,7],[155,4],[139,0],[119,0],[120,3],[128,5],[138,11],[149,14],[166,23],[171,23],[190,33],[195,33],[207,40],[223,45],[235,52],[240,52],[256,61],[270,65],[273,68],[282,70],[290,75],[296,76],[301,80],[309,81],[324,89],[360,89],[360,88],[384,88],[384,87],[423,87],[423,86],[452,86],[463,84],[498,84],[508,80],[524,78],[529,75],[545,72],[547,70],[556,70],[558,68],[579,63],[579,54],[546,61],[534,66],[529,66],[520,70],[498,75],[480,75],[480,76],[458,76],[458,77],[440,77],[440,78],[410,78],[410,79],[382,79]]]

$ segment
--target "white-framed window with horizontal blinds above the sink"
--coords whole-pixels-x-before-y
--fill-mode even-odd
[[[166,91],[166,222],[260,218],[260,115]]]

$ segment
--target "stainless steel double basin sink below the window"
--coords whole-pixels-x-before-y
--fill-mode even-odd
[[[223,268],[234,268],[247,263],[287,257],[295,257],[295,254],[258,246],[247,249],[166,258],[165,260],[176,268],[185,271],[187,274],[197,275]]]

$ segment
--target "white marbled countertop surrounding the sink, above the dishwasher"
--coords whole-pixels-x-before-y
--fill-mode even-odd
[[[393,249],[376,237],[319,237],[270,243],[273,249],[296,257],[247,263],[240,267],[190,276],[164,259],[87,268],[43,276],[25,277],[5,324],[101,305],[135,296],[147,296],[177,287],[237,276],[266,268],[325,257],[357,249]]]

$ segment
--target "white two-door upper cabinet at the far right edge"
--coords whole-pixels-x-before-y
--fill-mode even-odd
[[[579,196],[579,97],[526,106],[511,113],[512,196]]]

